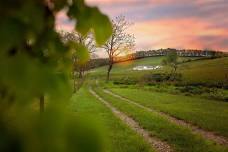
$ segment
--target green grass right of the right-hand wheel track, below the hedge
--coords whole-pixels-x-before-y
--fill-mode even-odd
[[[140,89],[111,89],[144,106],[166,112],[228,137],[228,103]]]

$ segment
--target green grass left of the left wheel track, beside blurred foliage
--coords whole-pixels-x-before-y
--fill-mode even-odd
[[[116,118],[100,101],[93,97],[86,88],[82,88],[72,97],[71,109],[79,115],[102,124],[107,152],[152,152],[151,147],[121,120]]]

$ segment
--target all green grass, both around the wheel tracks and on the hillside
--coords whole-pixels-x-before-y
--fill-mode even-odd
[[[87,76],[86,85],[93,86],[94,91],[110,103],[113,107],[137,122],[140,127],[148,131],[152,137],[166,142],[175,152],[227,152],[228,145],[220,145],[206,136],[192,131],[190,128],[170,121],[164,115],[148,111],[134,104],[124,101],[103,91],[103,88],[126,97],[144,107],[164,112],[171,117],[192,124],[202,130],[215,133],[228,139],[228,102],[216,98],[206,98],[188,92],[176,92],[178,86],[169,83],[158,83],[152,86],[145,85],[117,85],[115,79],[131,77],[140,79],[147,73],[165,73],[168,68],[154,71],[134,71],[133,67],[140,65],[161,65],[164,57],[150,57],[131,62],[114,65],[111,72],[111,81],[105,83],[106,66],[93,69]],[[189,58],[180,58],[187,60]],[[194,58],[197,59],[197,58]],[[178,72],[183,79],[190,83],[222,83],[227,81],[228,58],[200,59],[179,64]],[[127,79],[128,81],[128,79]],[[98,83],[95,83],[98,82]],[[95,85],[96,84],[96,85]],[[151,148],[142,136],[117,118],[108,107],[89,93],[85,85],[73,96],[71,109],[77,114],[89,115],[99,124],[104,132],[105,151],[110,152],[151,152]],[[159,89],[169,91],[159,91]],[[185,86],[181,86],[185,87]],[[199,86],[194,86],[199,89]],[[202,88],[205,89],[206,86]],[[210,89],[210,88],[209,88]],[[214,88],[212,88],[214,89]],[[172,91],[173,90],[173,91]],[[207,89],[206,89],[207,90]],[[217,91],[227,90],[224,88]],[[190,91],[191,88],[190,88]],[[194,90],[193,90],[194,91]],[[204,92],[205,93],[205,92]],[[208,96],[210,97],[210,96]]]

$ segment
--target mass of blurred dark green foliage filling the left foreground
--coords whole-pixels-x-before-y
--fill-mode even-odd
[[[0,152],[102,151],[93,124],[66,110],[72,45],[55,30],[56,14],[66,10],[81,33],[94,31],[98,44],[110,36],[109,19],[83,0],[0,1]],[[77,64],[89,59],[83,45],[73,47]]]

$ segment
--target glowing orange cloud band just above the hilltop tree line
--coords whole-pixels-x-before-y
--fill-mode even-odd
[[[150,20],[136,23],[129,32],[135,34],[138,49],[227,49],[220,41],[228,37],[228,30],[212,25],[196,18]]]

